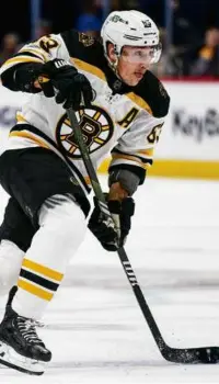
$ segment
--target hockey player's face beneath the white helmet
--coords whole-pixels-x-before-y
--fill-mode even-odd
[[[131,87],[137,86],[150,67],[152,54],[150,47],[124,46],[117,65],[123,81]]]

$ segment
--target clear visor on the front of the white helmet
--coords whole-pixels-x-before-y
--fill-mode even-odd
[[[150,65],[158,63],[161,56],[161,44],[146,47],[124,46],[120,56],[130,64]]]

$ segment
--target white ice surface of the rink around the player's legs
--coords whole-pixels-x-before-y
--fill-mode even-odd
[[[1,192],[1,216],[7,199]],[[149,178],[136,203],[126,251],[165,341],[219,346],[219,182]],[[161,357],[117,255],[90,233],[44,321],[39,335],[53,351],[46,373],[0,365],[0,384],[219,382],[219,364]]]

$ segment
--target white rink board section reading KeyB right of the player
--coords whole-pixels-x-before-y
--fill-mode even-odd
[[[219,82],[164,81],[170,114],[157,158],[219,161]]]

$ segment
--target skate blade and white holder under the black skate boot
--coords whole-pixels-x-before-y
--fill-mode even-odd
[[[37,376],[45,372],[46,366],[45,362],[25,358],[2,341],[0,341],[0,364]]]

